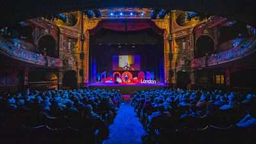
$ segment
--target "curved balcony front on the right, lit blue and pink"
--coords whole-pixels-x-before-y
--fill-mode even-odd
[[[243,40],[243,42],[239,42],[239,44],[235,44],[233,48],[227,51],[194,59],[191,62],[191,67],[200,68],[227,63],[229,61],[243,58],[243,56],[251,54],[254,51],[256,51],[256,37],[252,36],[251,38]]]

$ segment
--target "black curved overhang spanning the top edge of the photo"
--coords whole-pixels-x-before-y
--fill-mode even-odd
[[[256,10],[254,1],[248,0],[26,0],[26,1],[1,1],[2,12],[0,28],[15,24],[22,20],[32,19],[53,13],[85,10],[90,8],[115,8],[115,7],[151,7],[166,10],[183,10],[209,15],[220,15],[232,20],[246,22],[256,26]],[[15,19],[13,19],[13,17]]]

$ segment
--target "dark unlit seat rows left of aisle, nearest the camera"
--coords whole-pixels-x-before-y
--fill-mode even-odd
[[[33,115],[35,116],[35,115]],[[38,118],[26,117],[1,125],[1,143],[96,143],[100,140],[99,128],[92,120],[57,118],[41,113]],[[30,118],[30,119],[29,119]],[[19,122],[20,121],[20,122]],[[77,126],[79,125],[79,127]],[[104,125],[104,124],[102,124]],[[108,134],[108,127],[101,127]],[[101,131],[101,132],[102,132]]]

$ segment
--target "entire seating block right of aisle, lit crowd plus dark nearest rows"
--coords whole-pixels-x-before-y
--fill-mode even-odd
[[[145,144],[253,144],[254,100],[251,93],[159,89],[135,92],[131,104]]]

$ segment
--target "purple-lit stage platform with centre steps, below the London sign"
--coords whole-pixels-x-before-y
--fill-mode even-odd
[[[131,95],[132,92],[138,90],[148,90],[152,88],[164,88],[168,87],[167,84],[164,83],[156,83],[156,84],[141,84],[141,83],[92,83],[89,84],[90,88],[106,88],[109,90],[120,90],[122,95]]]

